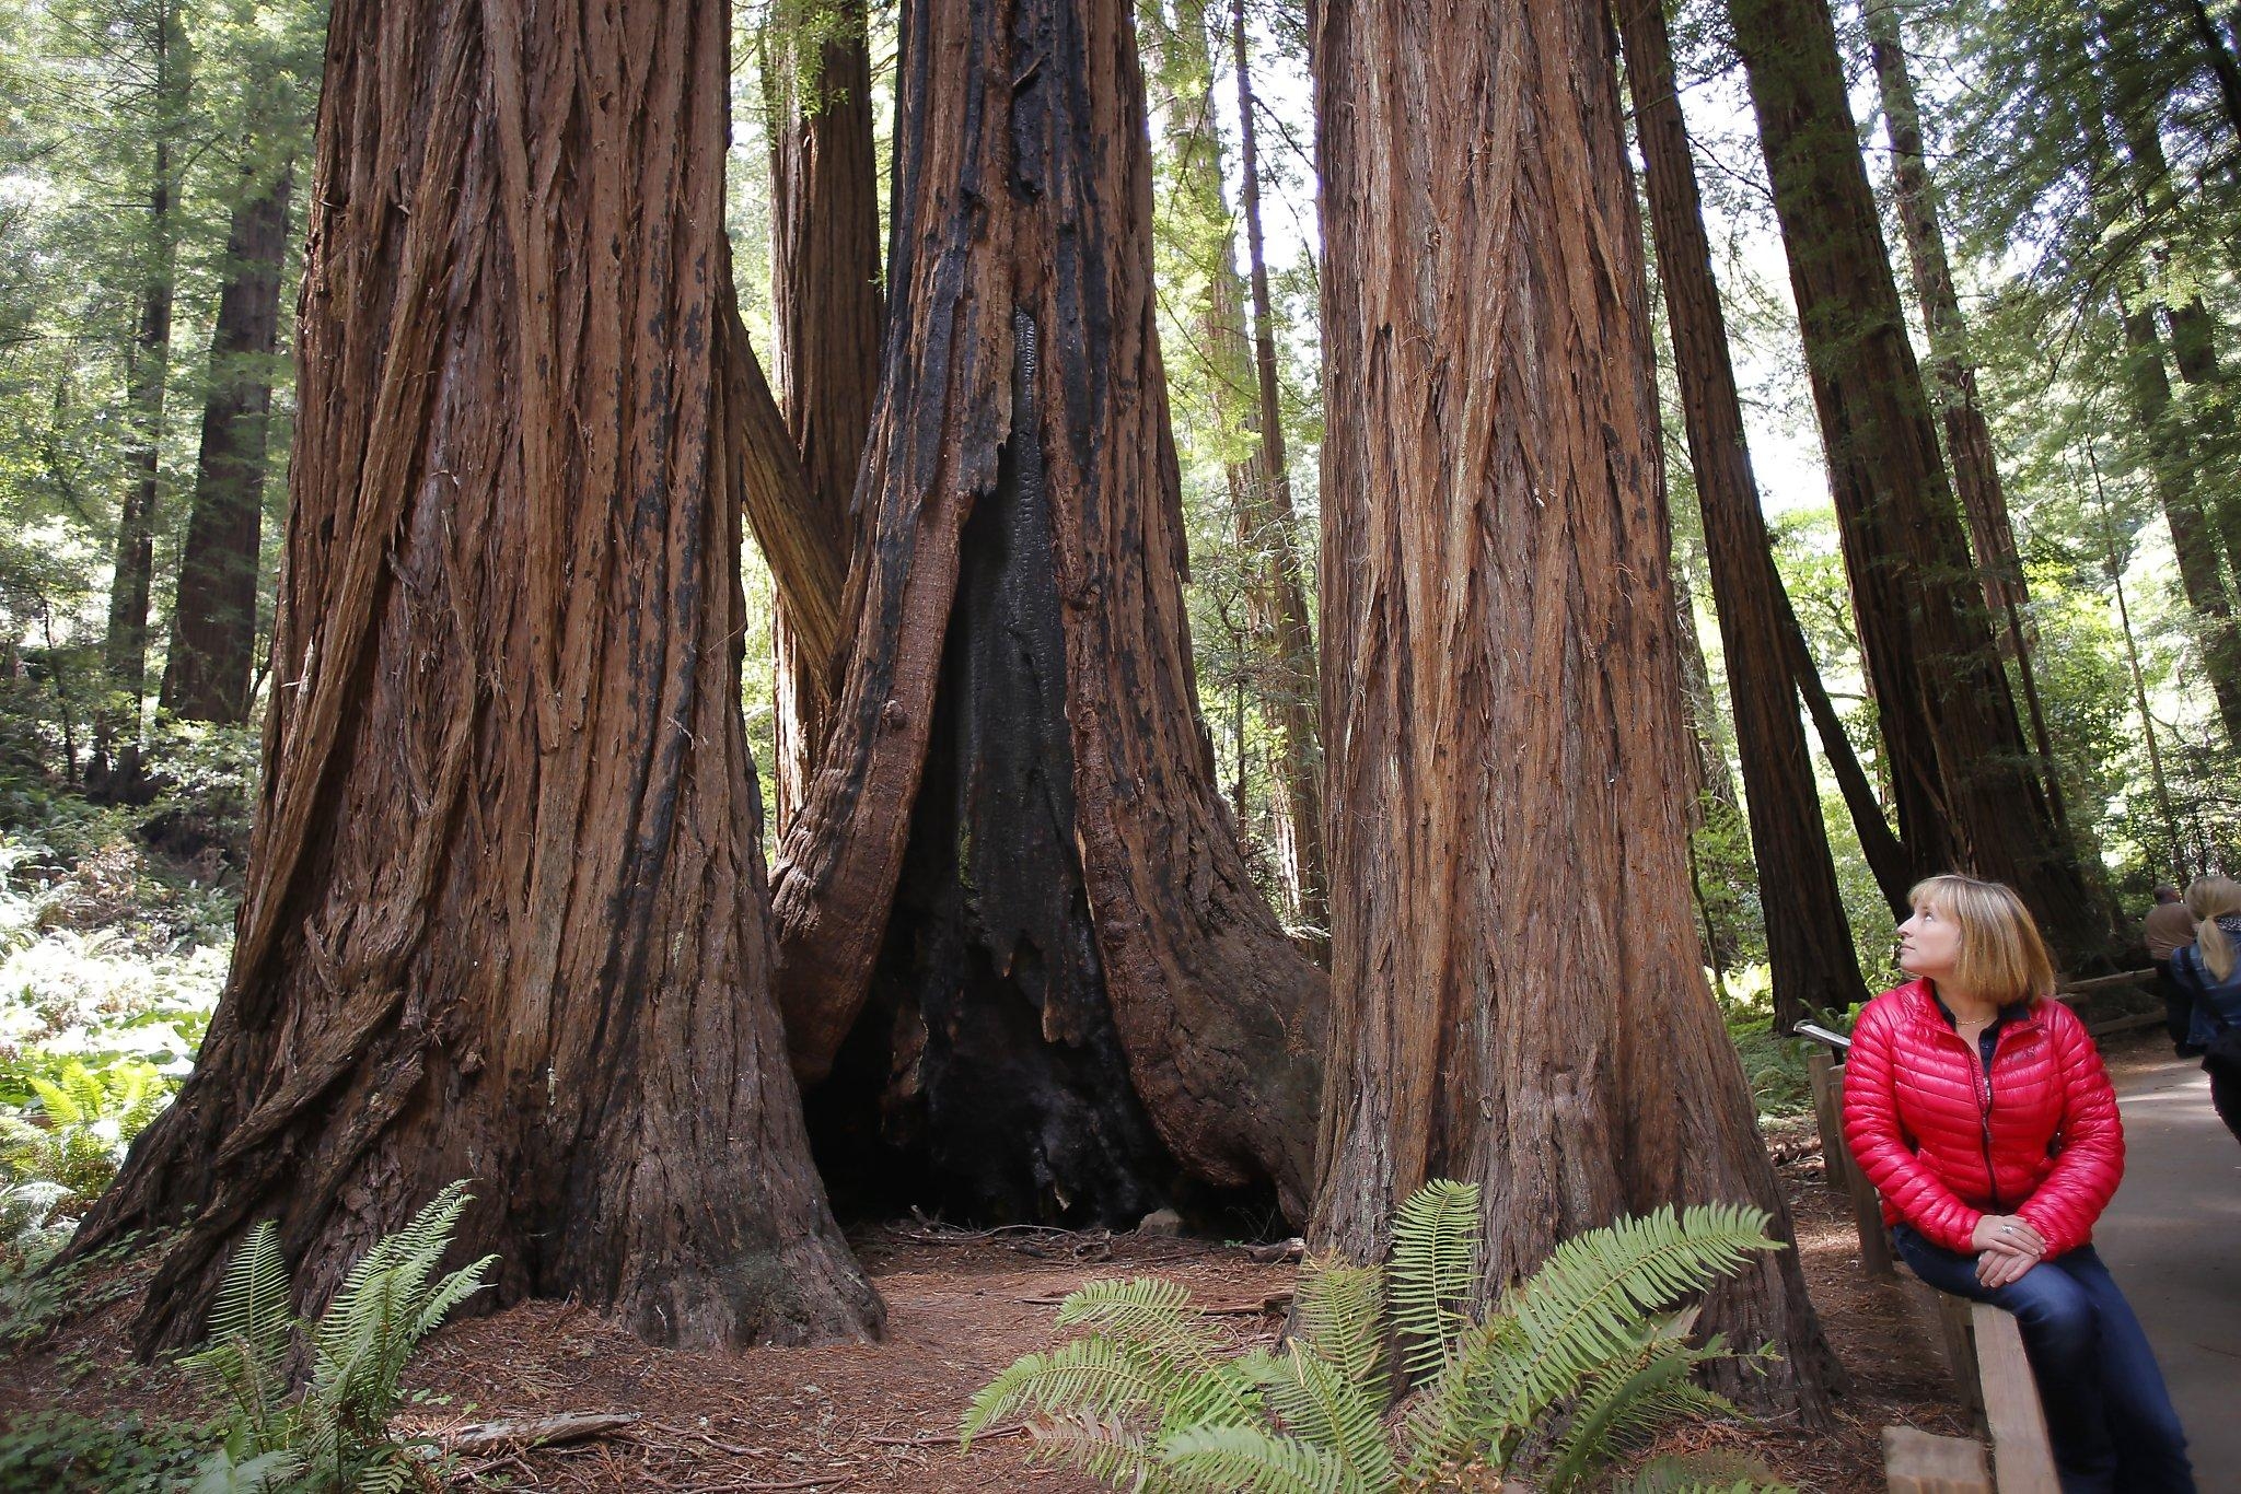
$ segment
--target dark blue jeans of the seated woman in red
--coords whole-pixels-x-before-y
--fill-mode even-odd
[[[1891,1239],[1930,1286],[2015,1313],[2064,1494],[2194,1494],[2187,1434],[2156,1351],[2093,1245],[1986,1290],[1977,1257],[1932,1245],[1909,1225]]]

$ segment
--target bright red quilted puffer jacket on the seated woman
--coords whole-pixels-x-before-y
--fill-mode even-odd
[[[1882,992],[1853,1024],[1844,1142],[1885,1223],[1961,1252],[1986,1214],[2024,1216],[2051,1257],[2075,1250],[2124,1176],[2116,1091],[2071,1008],[2033,1001],[1986,1073],[1927,981]]]

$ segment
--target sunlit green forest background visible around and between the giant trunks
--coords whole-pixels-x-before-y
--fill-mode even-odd
[[[863,20],[854,92],[816,60],[847,34],[845,11],[733,20],[728,228],[766,358],[787,343],[773,204],[798,101],[825,87],[834,105],[867,103],[887,179],[896,18]],[[1759,134],[1768,101],[1755,108],[1743,54],[1757,45],[1766,72],[1784,13],[1683,4],[1670,20],[1726,345],[1806,650],[1795,685],[1822,706],[1808,710],[1806,811],[1871,990],[1889,974],[1891,887],[1905,880],[1889,820],[1921,831],[1905,741],[1923,723],[1869,685],[1876,603],[1844,564],[1795,269],[1782,269],[1813,258],[1815,224],[1779,211]],[[2228,869],[2237,844],[2241,16],[2196,0],[2015,0],[1840,7],[1835,22],[1851,148],[1880,193],[1882,244],[1907,251],[1885,269],[1907,287],[1972,520],[1970,587],[2003,641],[1997,690],[2026,726],[2006,768],[2075,847],[2093,896],[2136,916],[2149,887]],[[1143,7],[1136,27],[1203,728],[1246,865],[1313,950],[1329,909],[1304,598],[1318,589],[1327,390],[1307,18],[1185,0]],[[323,38],[314,7],[0,11],[0,1104],[38,1104],[34,1075],[92,1075],[92,1149],[108,1156],[25,1212],[90,1203],[130,1129],[190,1068],[224,979],[258,721],[291,688],[269,674],[269,636]],[[1654,141],[1640,150],[1654,184]],[[890,213],[887,190],[874,197]],[[1645,228],[1654,220],[1649,204]],[[1663,309],[1652,325],[1696,739],[1701,954],[1761,1104],[1795,1104],[1795,1057],[1770,1037],[1752,764]],[[784,390],[784,356],[773,381]],[[1954,421],[1970,408],[1986,450]],[[1970,488],[1986,457],[1997,502]],[[793,643],[753,544],[744,569],[744,708],[775,851],[800,793]],[[2122,959],[2113,932],[2055,934],[2073,968]]]

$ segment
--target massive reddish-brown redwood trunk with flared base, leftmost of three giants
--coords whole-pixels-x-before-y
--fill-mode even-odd
[[[861,1335],[740,717],[726,11],[334,9],[264,786],[199,1066],[78,1248],[278,1216],[314,1299],[450,1178],[504,1304]]]

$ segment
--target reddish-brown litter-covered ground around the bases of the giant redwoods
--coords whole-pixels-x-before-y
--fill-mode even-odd
[[[1959,1436],[1965,1418],[1918,1292],[1860,1277],[1849,1207],[1822,1183],[1813,1118],[1773,1122],[1766,1142],[1851,1393],[1824,1431],[1699,1425],[1661,1449],[1755,1456],[1804,1490],[1880,1490],[1885,1425]],[[406,1375],[421,1393],[406,1427],[459,1445],[455,1487],[1087,1494],[1098,1487],[1089,1478],[1029,1463],[1022,1427],[979,1438],[970,1454],[957,1447],[968,1398],[1017,1355],[1064,1337],[1053,1328],[1058,1301],[1096,1277],[1165,1274],[1239,1346],[1273,1344],[1300,1270],[1282,1250],[1105,1230],[964,1232],[914,1218],[852,1239],[887,1301],[881,1344],[663,1351],[587,1308],[529,1301],[424,1344]],[[119,1369],[130,1364],[130,1310],[105,1306],[36,1351],[0,1357],[0,1425],[38,1409],[179,1416],[179,1371]]]

